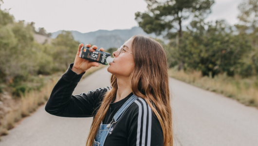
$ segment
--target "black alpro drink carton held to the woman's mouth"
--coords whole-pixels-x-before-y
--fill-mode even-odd
[[[100,64],[108,65],[109,63],[113,62],[113,58],[111,58],[111,54],[107,52],[102,52],[96,50],[94,52],[90,52],[89,47],[81,47],[81,52],[79,57],[83,59],[87,59],[93,62],[98,62]]]

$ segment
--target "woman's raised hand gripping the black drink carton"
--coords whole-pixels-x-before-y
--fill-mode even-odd
[[[81,47],[83,47],[83,44],[79,44],[78,51],[74,60],[74,66],[72,67],[72,71],[74,71],[77,74],[81,74],[86,72],[88,69],[90,69],[92,66],[98,67],[99,64],[97,62],[92,62],[86,59],[83,59],[79,57],[80,52],[81,52]],[[97,50],[97,46],[93,45],[91,48],[90,44],[86,44],[85,47],[90,48],[90,52],[94,52]],[[100,48],[99,51],[104,51],[103,48]]]

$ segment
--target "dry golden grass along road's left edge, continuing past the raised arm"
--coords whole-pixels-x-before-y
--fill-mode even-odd
[[[103,67],[105,66],[100,65],[99,67],[89,69],[82,78],[87,77]],[[40,105],[44,104],[48,100],[59,78],[60,73],[57,73],[46,81],[45,86],[41,88],[40,91],[25,92],[25,96],[18,99],[16,106],[12,107],[12,110],[0,119],[0,135],[7,135],[8,130],[15,127],[16,122],[20,121],[23,117],[29,116],[32,112],[36,111]]]

